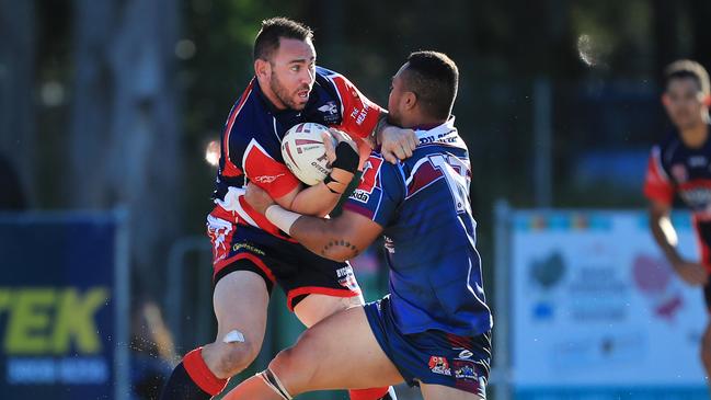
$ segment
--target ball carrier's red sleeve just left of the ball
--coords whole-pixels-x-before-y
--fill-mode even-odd
[[[279,198],[299,186],[300,181],[291,171],[270,156],[255,139],[248,145],[242,164],[250,182],[263,188],[272,198]]]

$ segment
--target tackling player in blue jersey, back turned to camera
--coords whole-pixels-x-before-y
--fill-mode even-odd
[[[226,399],[290,399],[320,389],[405,380],[425,399],[480,399],[489,375],[492,317],[485,304],[467,146],[449,118],[457,67],[412,54],[392,80],[390,118],[417,129],[414,156],[397,165],[374,152],[333,219],[285,210],[250,184],[248,201],[309,250],[346,260],[385,235],[390,295],[308,329],[270,368]]]

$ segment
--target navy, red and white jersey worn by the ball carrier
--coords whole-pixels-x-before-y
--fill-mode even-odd
[[[253,182],[272,198],[288,194],[300,185],[282,158],[282,138],[291,126],[312,122],[364,138],[375,128],[381,111],[345,77],[324,68],[317,67],[313,89],[301,111],[274,107],[253,78],[225,124],[215,203],[237,213],[240,222],[286,239],[243,198],[245,182]]]

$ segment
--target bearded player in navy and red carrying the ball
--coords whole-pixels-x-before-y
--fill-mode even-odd
[[[345,142],[335,149],[333,172],[322,183],[303,185],[284,164],[280,140],[301,122],[335,126],[372,140],[397,157],[412,155],[412,132],[383,128],[386,113],[343,76],[316,67],[311,30],[287,19],[264,21],[254,43],[254,72],[221,137],[216,207],[208,216],[214,250],[214,343],[185,355],[163,399],[208,399],[256,357],[264,339],[270,293],[278,283],[287,306],[307,327],[363,302],[351,266],[310,253],[244,202],[245,180],[264,188],[286,209],[328,214],[358,164]],[[326,141],[328,142],[328,141]],[[378,399],[388,388],[352,393]]]

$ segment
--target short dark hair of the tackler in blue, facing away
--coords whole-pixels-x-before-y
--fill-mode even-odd
[[[438,52],[412,53],[403,78],[406,90],[417,95],[429,116],[449,117],[459,85],[459,69],[451,58]]]

